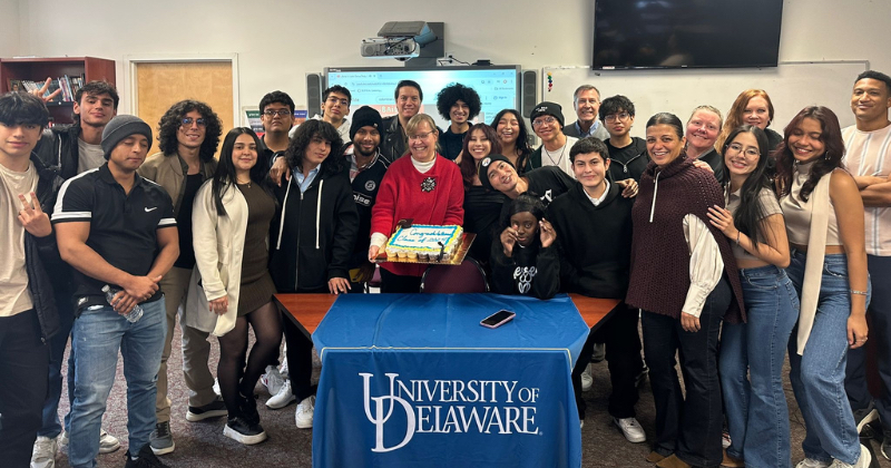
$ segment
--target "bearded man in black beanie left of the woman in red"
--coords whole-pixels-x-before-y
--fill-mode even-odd
[[[360,107],[353,113],[350,126],[351,143],[346,144],[343,152],[343,157],[349,163],[344,166],[349,167],[353,199],[359,211],[359,235],[349,264],[351,293],[364,292],[365,283],[374,274],[374,265],[368,261],[371,207],[374,206],[381,179],[389,165],[380,153],[382,127],[381,114],[378,110],[369,106]]]

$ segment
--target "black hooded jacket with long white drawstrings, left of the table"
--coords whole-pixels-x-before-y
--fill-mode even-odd
[[[281,208],[270,233],[270,274],[278,292],[326,290],[332,277],[350,279],[359,231],[353,189],[342,173],[324,172],[304,193],[294,175],[274,188]]]

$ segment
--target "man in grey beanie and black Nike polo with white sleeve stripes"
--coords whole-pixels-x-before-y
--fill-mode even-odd
[[[151,147],[148,124],[117,116],[102,130],[101,147],[107,163],[68,179],[52,214],[59,253],[75,269],[77,374],[68,459],[72,467],[95,466],[120,352],[129,419],[125,466],[164,467],[148,437],[166,328],[158,282],[179,255],[174,207],[167,192],[136,174]],[[133,313],[137,305],[141,315]]]

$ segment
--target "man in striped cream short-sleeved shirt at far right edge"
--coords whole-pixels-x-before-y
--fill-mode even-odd
[[[882,455],[891,456],[891,77],[869,70],[854,81],[851,110],[856,124],[842,130],[844,165],[854,176],[865,208],[866,259],[872,300],[866,315],[869,338],[875,357],[883,397],[874,398],[866,387],[866,347],[848,351],[845,390],[858,431],[881,419],[884,432]]]

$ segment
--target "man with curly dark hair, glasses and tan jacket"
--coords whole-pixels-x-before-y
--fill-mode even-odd
[[[155,455],[174,451],[170,435],[170,399],[167,398],[167,358],[170,357],[177,310],[183,304],[183,372],[189,388],[186,419],[225,416],[226,406],[214,393],[214,376],[207,368],[210,343],[207,332],[189,322],[186,303],[195,251],[192,246],[192,202],[204,181],[216,170],[214,154],[223,131],[219,117],[204,103],[186,99],[174,104],[158,123],[160,152],[149,156],[139,167],[139,175],[160,185],[174,202],[174,216],[179,227],[179,257],[164,275],[159,286],[165,294],[167,335],[158,370],[158,394],[155,404],[157,422],[149,443]],[[194,313],[192,314],[195,315]],[[190,325],[192,324],[192,325]]]

